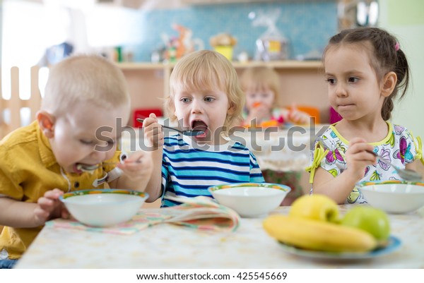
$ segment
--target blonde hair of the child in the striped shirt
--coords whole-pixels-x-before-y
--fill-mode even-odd
[[[174,98],[179,90],[214,90],[219,88],[228,95],[230,111],[223,126],[234,126],[242,120],[245,105],[237,72],[223,55],[211,50],[201,50],[184,56],[175,65],[170,76],[170,95],[165,98],[165,109],[175,121]]]

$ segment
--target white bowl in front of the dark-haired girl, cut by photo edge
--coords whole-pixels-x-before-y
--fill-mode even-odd
[[[364,181],[358,183],[367,203],[390,213],[406,213],[424,205],[424,183]]]

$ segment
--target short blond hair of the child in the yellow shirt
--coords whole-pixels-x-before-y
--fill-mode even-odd
[[[71,56],[50,68],[41,109],[64,113],[76,103],[112,109],[130,103],[122,71],[98,55]]]

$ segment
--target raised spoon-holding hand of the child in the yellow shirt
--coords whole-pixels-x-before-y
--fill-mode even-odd
[[[131,181],[149,180],[153,172],[151,152],[134,152],[124,160],[124,163],[118,164],[117,167],[122,169]]]

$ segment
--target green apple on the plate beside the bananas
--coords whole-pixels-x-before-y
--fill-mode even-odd
[[[341,225],[363,229],[377,241],[385,241],[390,236],[389,217],[386,212],[375,207],[359,205],[351,208],[341,219]]]

